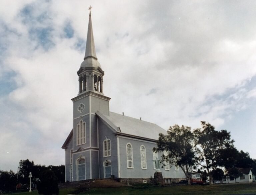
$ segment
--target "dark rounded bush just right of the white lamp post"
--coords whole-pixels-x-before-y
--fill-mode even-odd
[[[37,183],[39,194],[52,195],[59,194],[58,178],[52,170],[44,170],[40,176],[40,181]]]

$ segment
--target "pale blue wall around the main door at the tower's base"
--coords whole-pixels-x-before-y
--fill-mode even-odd
[[[77,160],[82,157],[85,158],[85,176],[86,179],[90,179],[90,151],[82,151],[73,154],[73,181],[77,181]]]

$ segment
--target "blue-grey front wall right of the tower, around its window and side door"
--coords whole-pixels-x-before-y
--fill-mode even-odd
[[[103,163],[106,160],[111,161],[111,175],[118,177],[118,161],[117,161],[117,142],[116,136],[113,135],[113,131],[107,127],[100,119],[98,120],[99,125],[99,169],[100,178],[104,178],[104,166]],[[103,157],[103,141],[110,139],[111,141],[111,156]]]

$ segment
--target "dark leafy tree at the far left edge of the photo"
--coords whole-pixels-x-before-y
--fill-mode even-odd
[[[1,171],[0,170],[0,190],[2,192],[13,192],[16,187],[17,174],[12,170]]]

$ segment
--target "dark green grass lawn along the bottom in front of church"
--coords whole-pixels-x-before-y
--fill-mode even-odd
[[[77,189],[76,189],[77,190]],[[168,187],[146,187],[146,188],[133,188],[133,187],[117,187],[117,188],[92,188],[80,189],[83,192],[80,194],[92,195],[164,195],[164,194],[256,194],[256,183],[250,184],[229,184],[229,185],[213,185],[213,186],[197,186],[197,185],[180,185]],[[60,195],[72,194],[75,189],[66,188],[60,190]],[[15,193],[15,195],[37,195],[37,191]],[[14,195],[14,194],[13,194]]]

